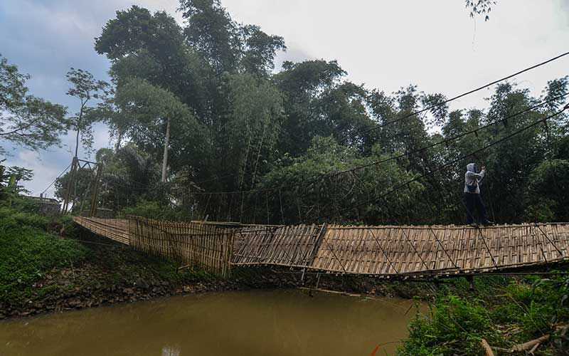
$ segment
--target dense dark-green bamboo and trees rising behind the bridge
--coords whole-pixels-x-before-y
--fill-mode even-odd
[[[492,4],[467,1],[473,14]],[[450,111],[445,95],[415,85],[390,95],[351,83],[336,61],[275,71],[284,39],[235,22],[218,0],[182,0],[179,11],[183,25],[139,6],[107,22],[95,50],[112,63],[112,90],[70,72],[72,90],[85,77],[105,94],[87,110],[87,137],[102,120],[115,138],[96,155],[100,206],[151,202],[180,219],[270,224],[458,224],[464,170],[476,162],[488,169],[491,219],[569,219],[567,115],[528,127],[563,109],[567,77],[540,98],[502,82],[486,110]],[[78,177],[75,211],[92,191],[92,172]]]

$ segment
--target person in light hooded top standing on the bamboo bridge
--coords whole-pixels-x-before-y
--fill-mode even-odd
[[[482,171],[477,173],[476,164],[467,164],[467,172],[464,174],[464,199],[467,204],[467,224],[477,226],[474,220],[474,211],[478,212],[479,219],[484,225],[494,224],[488,220],[486,216],[486,208],[480,198],[480,184],[486,174],[486,167],[482,167]]]

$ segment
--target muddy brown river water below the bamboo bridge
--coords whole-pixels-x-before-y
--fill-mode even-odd
[[[395,353],[410,300],[302,290],[183,295],[0,322],[0,355],[308,356]],[[385,351],[383,351],[385,349]]]

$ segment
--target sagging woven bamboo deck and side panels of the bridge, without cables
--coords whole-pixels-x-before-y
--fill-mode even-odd
[[[496,273],[569,258],[569,223],[471,226],[240,226],[75,217],[92,233],[229,276],[286,266],[367,276]]]

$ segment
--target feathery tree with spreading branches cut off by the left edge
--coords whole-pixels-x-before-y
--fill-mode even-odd
[[[32,150],[59,145],[66,108],[28,94],[29,78],[0,56],[0,140]]]

